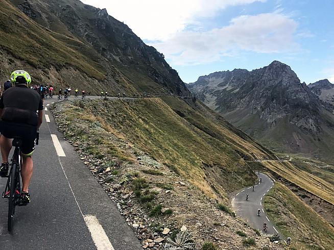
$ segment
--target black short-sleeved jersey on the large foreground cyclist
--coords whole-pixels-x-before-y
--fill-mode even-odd
[[[43,110],[43,102],[36,91],[26,85],[17,85],[3,93],[0,109],[3,109],[1,119],[5,122],[37,126],[37,110]]]

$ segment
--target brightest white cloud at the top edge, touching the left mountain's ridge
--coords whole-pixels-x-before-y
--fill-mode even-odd
[[[141,39],[166,40],[200,17],[211,17],[227,6],[266,0],[81,0],[124,21]]]

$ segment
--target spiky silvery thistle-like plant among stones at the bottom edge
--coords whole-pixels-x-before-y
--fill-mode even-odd
[[[164,245],[165,250],[194,250],[195,242],[192,239],[192,234],[188,231],[179,232],[175,240],[171,238],[166,239],[166,244]]]

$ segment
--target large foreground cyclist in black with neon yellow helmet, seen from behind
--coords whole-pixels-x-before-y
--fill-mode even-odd
[[[0,99],[0,145],[2,164],[1,177],[8,174],[8,157],[12,148],[12,139],[22,139],[21,156],[22,191],[20,205],[30,203],[29,185],[33,173],[32,154],[36,146],[37,130],[43,120],[43,102],[41,96],[29,88],[31,77],[24,70],[16,70],[11,75],[15,87],[6,90]],[[37,114],[38,111],[38,114]]]

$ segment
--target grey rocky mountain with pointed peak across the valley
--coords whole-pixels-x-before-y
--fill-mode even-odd
[[[188,88],[276,151],[333,160],[334,116],[286,64],[215,72]]]

